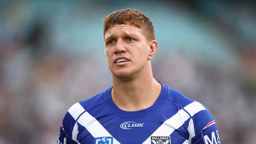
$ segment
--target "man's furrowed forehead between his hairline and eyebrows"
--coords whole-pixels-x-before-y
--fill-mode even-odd
[[[143,35],[142,29],[132,26],[130,24],[115,24],[113,27],[109,28],[105,33],[105,39],[109,37],[125,34],[125,35]]]

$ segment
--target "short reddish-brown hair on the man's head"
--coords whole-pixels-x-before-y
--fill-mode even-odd
[[[130,24],[137,28],[142,28],[143,34],[148,41],[155,40],[154,26],[151,20],[143,13],[135,9],[121,9],[113,11],[104,18],[103,37],[105,39],[106,31],[115,24]]]

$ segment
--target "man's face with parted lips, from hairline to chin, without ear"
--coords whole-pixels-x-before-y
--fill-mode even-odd
[[[104,48],[109,70],[118,78],[133,76],[148,64],[150,44],[141,28],[116,24],[106,31]]]

